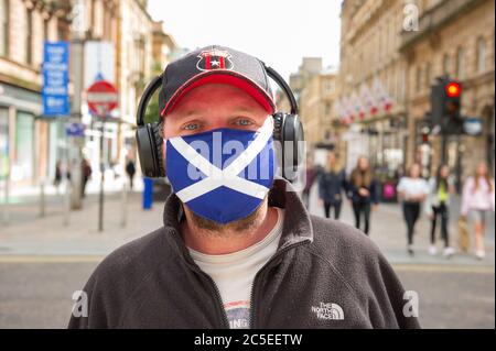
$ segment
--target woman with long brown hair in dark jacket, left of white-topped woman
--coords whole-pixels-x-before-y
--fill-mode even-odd
[[[352,171],[347,183],[347,197],[352,202],[355,216],[355,227],[360,229],[364,219],[364,232],[368,235],[370,230],[370,211],[379,204],[377,182],[370,169],[367,157],[358,158],[355,169]]]

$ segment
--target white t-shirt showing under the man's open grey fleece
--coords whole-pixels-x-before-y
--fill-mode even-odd
[[[278,221],[269,234],[241,251],[209,255],[193,249],[195,263],[217,285],[231,329],[249,328],[251,285],[257,272],[276,253],[282,234],[284,210],[277,208]]]

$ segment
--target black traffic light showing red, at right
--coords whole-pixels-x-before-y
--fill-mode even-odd
[[[431,90],[431,127],[441,133],[462,134],[462,85],[448,77],[438,78]]]

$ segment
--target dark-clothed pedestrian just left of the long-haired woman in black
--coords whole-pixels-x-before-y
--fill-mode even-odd
[[[331,152],[327,167],[319,177],[319,205],[324,207],[325,218],[330,218],[333,209],[334,219],[339,219],[343,190],[346,191],[346,175],[337,155]]]

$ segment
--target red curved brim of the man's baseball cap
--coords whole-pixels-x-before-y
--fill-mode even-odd
[[[239,88],[260,103],[269,114],[276,112],[276,103],[273,102],[272,97],[269,96],[267,91],[258,84],[239,73],[218,69],[201,73],[184,83],[169,99],[168,103],[160,112],[160,116],[165,117],[174,109],[183,96],[185,96],[190,90],[205,84],[227,84]]]

